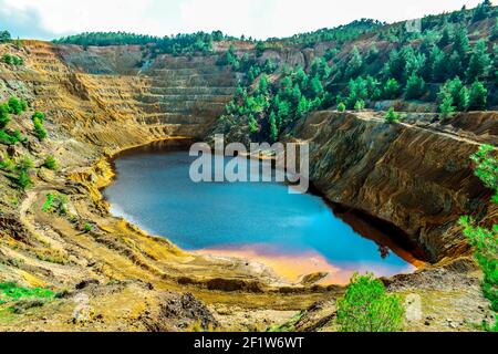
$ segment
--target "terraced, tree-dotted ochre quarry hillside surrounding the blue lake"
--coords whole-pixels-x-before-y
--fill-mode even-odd
[[[225,133],[311,143],[318,191],[354,211],[345,218],[388,222],[423,259],[416,273],[384,279],[427,305],[407,330],[477,330],[492,312],[458,218],[498,218],[468,158],[498,145],[497,8],[428,17],[421,33],[405,24],[362,20],[266,42],[86,33],[1,43],[0,329],[266,330],[304,310],[297,330],[334,330],[323,319],[343,288],[191,254],[110,214],[101,189],[113,156]],[[390,107],[397,124],[384,119]]]

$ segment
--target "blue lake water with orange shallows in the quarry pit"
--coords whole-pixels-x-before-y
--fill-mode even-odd
[[[321,197],[289,194],[279,183],[196,184],[194,159],[170,144],[122,154],[104,190],[111,211],[183,249],[258,261],[292,281],[317,271],[329,272],[325,282],[346,283],[355,271],[415,270],[411,253],[378,228],[338,217]]]

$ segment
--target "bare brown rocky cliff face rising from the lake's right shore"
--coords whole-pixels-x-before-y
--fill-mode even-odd
[[[404,122],[318,112],[295,136],[310,143],[310,178],[330,200],[394,223],[433,262],[465,254],[458,218],[498,216],[469,162],[478,144],[498,144],[498,116],[469,113],[439,124],[412,114]]]

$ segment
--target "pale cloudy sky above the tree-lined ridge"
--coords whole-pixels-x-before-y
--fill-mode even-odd
[[[387,22],[474,8],[481,0],[0,0],[0,30],[50,40],[84,31],[155,35],[221,30],[287,37],[360,18]],[[492,0],[498,4],[498,0]]]

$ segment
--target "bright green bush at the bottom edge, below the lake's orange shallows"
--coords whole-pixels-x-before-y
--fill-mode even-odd
[[[373,274],[355,274],[344,298],[338,301],[342,332],[402,331],[404,308],[397,295],[388,295]]]

